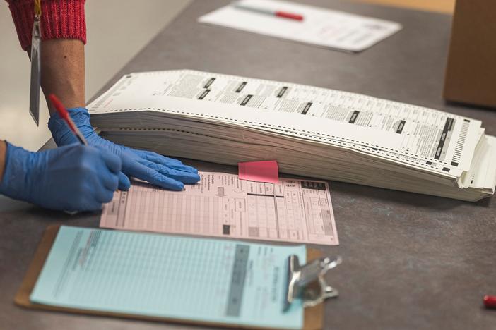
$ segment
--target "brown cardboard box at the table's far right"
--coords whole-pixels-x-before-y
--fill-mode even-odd
[[[496,1],[457,0],[444,99],[496,108]]]

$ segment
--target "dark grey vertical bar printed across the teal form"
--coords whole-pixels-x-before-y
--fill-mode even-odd
[[[249,245],[236,244],[234,264],[232,265],[231,284],[228,295],[227,316],[239,317],[243,302],[244,281],[247,276]]]

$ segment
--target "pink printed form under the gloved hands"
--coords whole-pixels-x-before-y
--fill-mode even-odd
[[[117,191],[103,208],[100,227],[338,245],[325,181],[263,183],[228,173],[199,174],[199,183],[180,192],[141,182]]]

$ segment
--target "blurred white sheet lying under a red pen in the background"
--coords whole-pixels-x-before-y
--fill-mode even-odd
[[[288,1],[242,0],[238,4],[297,13],[304,19],[290,20],[228,5],[201,16],[199,22],[343,51],[362,51],[401,30],[401,24],[388,20]]]

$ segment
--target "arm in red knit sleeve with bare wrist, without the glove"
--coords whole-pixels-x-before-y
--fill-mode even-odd
[[[34,4],[7,0],[23,49],[30,51]],[[85,105],[85,0],[41,1],[41,85],[45,96],[54,93],[67,107]],[[45,27],[45,28],[44,28]],[[50,109],[52,113],[52,109]]]

